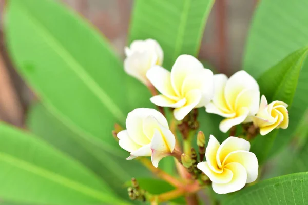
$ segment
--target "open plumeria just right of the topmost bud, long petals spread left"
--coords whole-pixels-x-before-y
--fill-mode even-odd
[[[151,102],[175,108],[177,120],[182,120],[194,108],[204,107],[213,97],[213,72],[191,55],[180,55],[171,72],[153,66],[146,76],[161,93],[150,98]]]

